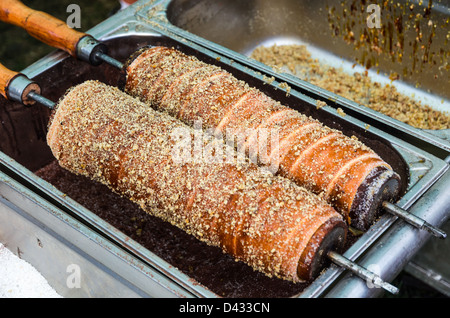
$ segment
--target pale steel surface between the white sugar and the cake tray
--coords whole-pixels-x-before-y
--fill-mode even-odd
[[[201,286],[194,290],[183,288],[180,282],[188,281],[188,277],[149,255],[76,202],[67,198],[64,204],[78,213],[67,212],[16,178],[0,172],[0,238],[9,250],[32,264],[60,295],[214,297]]]

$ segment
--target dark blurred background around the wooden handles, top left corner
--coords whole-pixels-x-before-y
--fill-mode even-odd
[[[1,1],[1,0],[0,0]],[[69,4],[81,8],[81,28],[86,32],[120,9],[118,0],[23,0],[28,7],[46,12],[66,21],[72,12]],[[0,63],[14,71],[21,71],[55,49],[40,43],[19,27],[0,22]]]

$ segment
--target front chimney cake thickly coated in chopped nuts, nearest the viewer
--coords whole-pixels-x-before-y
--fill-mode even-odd
[[[317,260],[325,257],[318,246],[338,248],[345,239],[345,231],[336,235],[346,227],[341,215],[241,154],[211,162],[192,148],[182,153],[180,140],[195,137],[181,121],[88,81],[60,100],[47,141],[62,167],[106,184],[255,270],[294,282],[317,274],[323,267]],[[201,142],[203,149],[234,153],[217,138]]]

